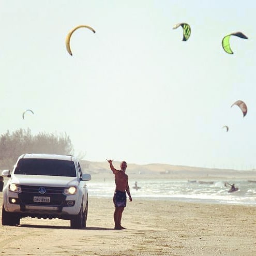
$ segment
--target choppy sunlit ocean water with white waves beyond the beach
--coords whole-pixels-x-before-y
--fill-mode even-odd
[[[204,181],[207,182],[207,181]],[[164,180],[145,179],[137,180],[140,189],[132,188],[134,183],[129,182],[130,192],[134,200],[175,200],[186,202],[238,204],[256,206],[256,183],[248,180],[235,180],[235,187],[239,190],[229,193],[230,186],[224,186],[224,180],[202,183],[198,180]],[[114,180],[90,180],[87,183],[90,197],[112,198]]]

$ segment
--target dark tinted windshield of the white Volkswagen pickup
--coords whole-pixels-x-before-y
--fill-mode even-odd
[[[14,174],[77,176],[74,162],[56,159],[20,159]]]

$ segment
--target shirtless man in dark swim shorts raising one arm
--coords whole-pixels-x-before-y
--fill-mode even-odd
[[[127,164],[125,161],[121,162],[120,168],[121,170],[116,170],[113,167],[112,161],[108,160],[110,164],[110,169],[115,175],[115,193],[113,197],[113,202],[115,205],[115,212],[114,212],[114,221],[115,221],[115,229],[125,229],[121,225],[121,218],[123,210],[126,206],[126,192],[129,196],[130,202],[132,201],[131,194],[130,194],[130,188],[128,185],[128,176],[125,174],[125,170],[127,168]]]

